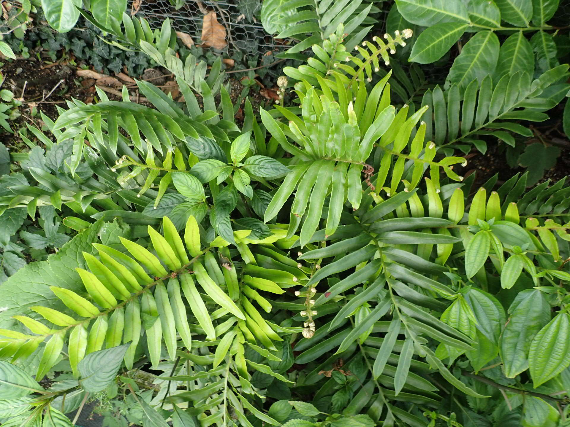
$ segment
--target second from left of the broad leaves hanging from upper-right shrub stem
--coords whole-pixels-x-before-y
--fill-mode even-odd
[[[446,84],[457,83],[459,87],[465,88],[475,79],[482,81],[495,71],[498,58],[499,39],[495,33],[479,31],[463,46],[461,54],[453,61]]]

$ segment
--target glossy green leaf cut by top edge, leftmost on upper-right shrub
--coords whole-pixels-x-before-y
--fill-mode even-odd
[[[469,23],[467,9],[461,0],[396,0],[396,5],[402,17],[422,27],[440,22]]]

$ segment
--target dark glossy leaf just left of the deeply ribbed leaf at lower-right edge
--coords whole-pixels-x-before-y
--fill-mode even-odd
[[[499,354],[504,375],[514,378],[528,368],[528,350],[532,339],[550,319],[550,305],[536,289],[517,295],[510,309],[510,318],[500,340]]]

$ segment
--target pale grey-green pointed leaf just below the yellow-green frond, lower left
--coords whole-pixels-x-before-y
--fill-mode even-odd
[[[103,391],[115,379],[123,363],[123,356],[131,343],[89,353],[79,362],[79,384],[89,392]]]

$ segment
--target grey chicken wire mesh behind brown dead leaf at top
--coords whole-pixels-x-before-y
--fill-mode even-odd
[[[255,18],[248,20],[243,14],[243,7],[237,1],[206,0],[201,4],[202,10],[205,7],[209,11],[216,11],[218,22],[226,27],[229,35],[226,38],[228,46],[225,50],[264,54],[267,51],[280,51],[286,47],[275,42],[274,38],[265,32],[261,22]],[[162,21],[170,18],[172,27],[176,31],[185,32],[192,37],[194,43],[200,43],[204,14],[196,1],[187,0],[184,6],[176,9],[168,0],[142,0],[136,16],[148,20],[152,28],[160,28]]]

